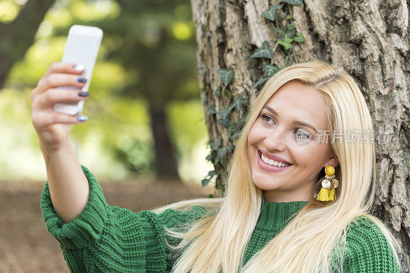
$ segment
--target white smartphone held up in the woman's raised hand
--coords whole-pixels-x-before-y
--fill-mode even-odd
[[[83,92],[87,92],[90,86],[101,39],[103,39],[103,31],[97,27],[73,25],[68,32],[66,48],[61,62],[81,64],[85,67],[82,76],[87,79],[87,83],[81,89]],[[75,89],[75,87],[59,88]],[[84,100],[78,102],[64,101],[63,103],[55,103],[53,109],[63,114],[75,116],[83,111],[83,107]]]

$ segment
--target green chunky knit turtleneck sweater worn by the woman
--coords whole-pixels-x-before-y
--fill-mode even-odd
[[[101,187],[85,166],[89,181],[89,201],[76,218],[64,223],[55,213],[46,182],[41,199],[47,230],[57,239],[71,272],[170,272],[174,259],[165,243],[163,226],[195,221],[206,210],[193,206],[190,212],[167,209],[133,213],[109,206]],[[274,238],[286,220],[307,201],[263,201],[262,210],[243,264]],[[364,218],[347,234],[348,251],[344,272],[399,272],[391,248],[378,227]],[[172,241],[167,237],[167,240]]]

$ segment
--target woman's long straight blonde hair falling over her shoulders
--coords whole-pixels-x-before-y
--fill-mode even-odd
[[[308,202],[241,268],[263,198],[262,190],[251,179],[248,134],[265,103],[291,80],[300,81],[322,94],[331,139],[336,131],[373,130],[366,101],[352,76],[321,60],[294,64],[277,72],[252,104],[228,168],[225,196],[184,200],[153,209],[155,213],[168,208],[187,211],[194,205],[207,209],[199,220],[186,226],[165,227],[166,235],[182,239],[177,245],[167,242],[175,257],[179,257],[172,272],[342,271],[347,226],[359,216],[368,217],[380,228],[400,265],[398,252],[402,250],[399,242],[383,222],[370,215],[376,177],[374,142],[352,143],[335,139],[331,147],[339,160],[336,178],[340,182],[336,200]],[[321,180],[318,180],[315,194],[320,189]],[[332,268],[335,264],[339,264],[339,268]]]

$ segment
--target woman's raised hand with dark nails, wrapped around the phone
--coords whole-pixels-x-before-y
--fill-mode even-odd
[[[78,119],[80,115],[71,116],[53,110],[53,105],[57,102],[88,99],[88,95],[79,95],[81,88],[86,85],[85,79],[81,77],[83,72],[82,66],[74,67],[73,64],[54,62],[40,78],[37,87],[31,91],[31,121],[39,138],[40,149],[59,149],[69,141],[73,124],[83,122]],[[57,89],[65,86],[76,89]]]

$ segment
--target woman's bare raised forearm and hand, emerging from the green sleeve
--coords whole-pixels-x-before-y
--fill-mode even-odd
[[[81,77],[83,72],[84,69],[73,64],[54,62],[30,93],[31,120],[46,161],[51,200],[55,212],[65,223],[83,211],[89,197],[88,181],[69,136],[73,124],[85,118],[55,112],[53,105],[88,99],[88,95],[81,93],[86,84]],[[61,86],[74,88],[57,89]]]

